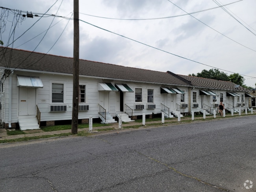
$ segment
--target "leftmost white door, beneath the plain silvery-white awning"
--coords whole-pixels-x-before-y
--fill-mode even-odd
[[[35,115],[35,88],[20,87],[19,115]]]

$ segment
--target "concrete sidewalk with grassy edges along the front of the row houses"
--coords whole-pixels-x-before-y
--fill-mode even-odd
[[[254,113],[255,114],[255,113]],[[251,115],[251,114],[248,114]],[[243,113],[241,116],[245,116],[245,113]],[[226,114],[226,117],[231,117],[231,114]],[[234,114],[234,117],[239,117],[239,114]],[[211,116],[206,116],[206,120],[214,120],[212,119],[213,115]],[[223,118],[221,116],[219,116],[219,114],[216,114],[216,118],[215,119],[219,119],[219,118]],[[170,123],[182,123],[182,121],[188,121],[191,120],[191,117],[182,117],[181,121],[178,122],[178,118],[171,118],[169,120],[165,120],[165,124],[166,125],[170,125]],[[203,120],[203,117],[196,117],[195,116],[195,120]],[[192,120],[191,120],[192,122]],[[146,122],[146,126],[156,126],[155,124],[160,124],[161,125],[161,121],[150,121],[150,122]],[[137,123],[137,122],[129,122],[129,123],[125,123],[122,124],[122,127],[132,127],[132,126],[139,126],[141,125],[141,127],[143,127],[142,123]],[[164,124],[163,124],[164,125]],[[114,128],[114,129],[119,129],[119,124],[118,123],[114,123],[114,124],[109,124],[109,126],[102,126],[102,127],[93,127],[93,132],[97,131],[97,129],[108,129],[108,128]],[[23,137],[37,137],[37,136],[43,136],[43,135],[59,135],[62,133],[71,133],[71,129],[66,129],[66,130],[59,130],[59,131],[43,131],[42,129],[35,129],[35,130],[27,130],[27,131],[23,131],[26,134],[20,134],[20,135],[7,135],[7,131],[11,131],[11,129],[0,129],[0,140],[9,140],[9,139],[17,139],[17,138],[23,138]],[[88,131],[89,132],[89,127],[86,128],[82,128],[82,129],[78,129],[78,132],[80,131]]]

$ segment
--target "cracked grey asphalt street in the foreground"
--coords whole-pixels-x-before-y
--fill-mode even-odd
[[[1,192],[252,192],[256,118],[0,144],[0,162]]]

